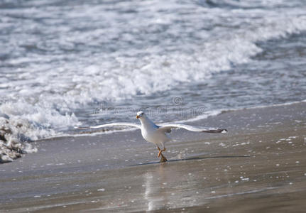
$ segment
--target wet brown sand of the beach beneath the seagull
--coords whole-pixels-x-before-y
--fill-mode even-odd
[[[140,131],[37,141],[0,165],[0,212],[305,212],[306,103],[229,111],[175,130],[168,163]]]

